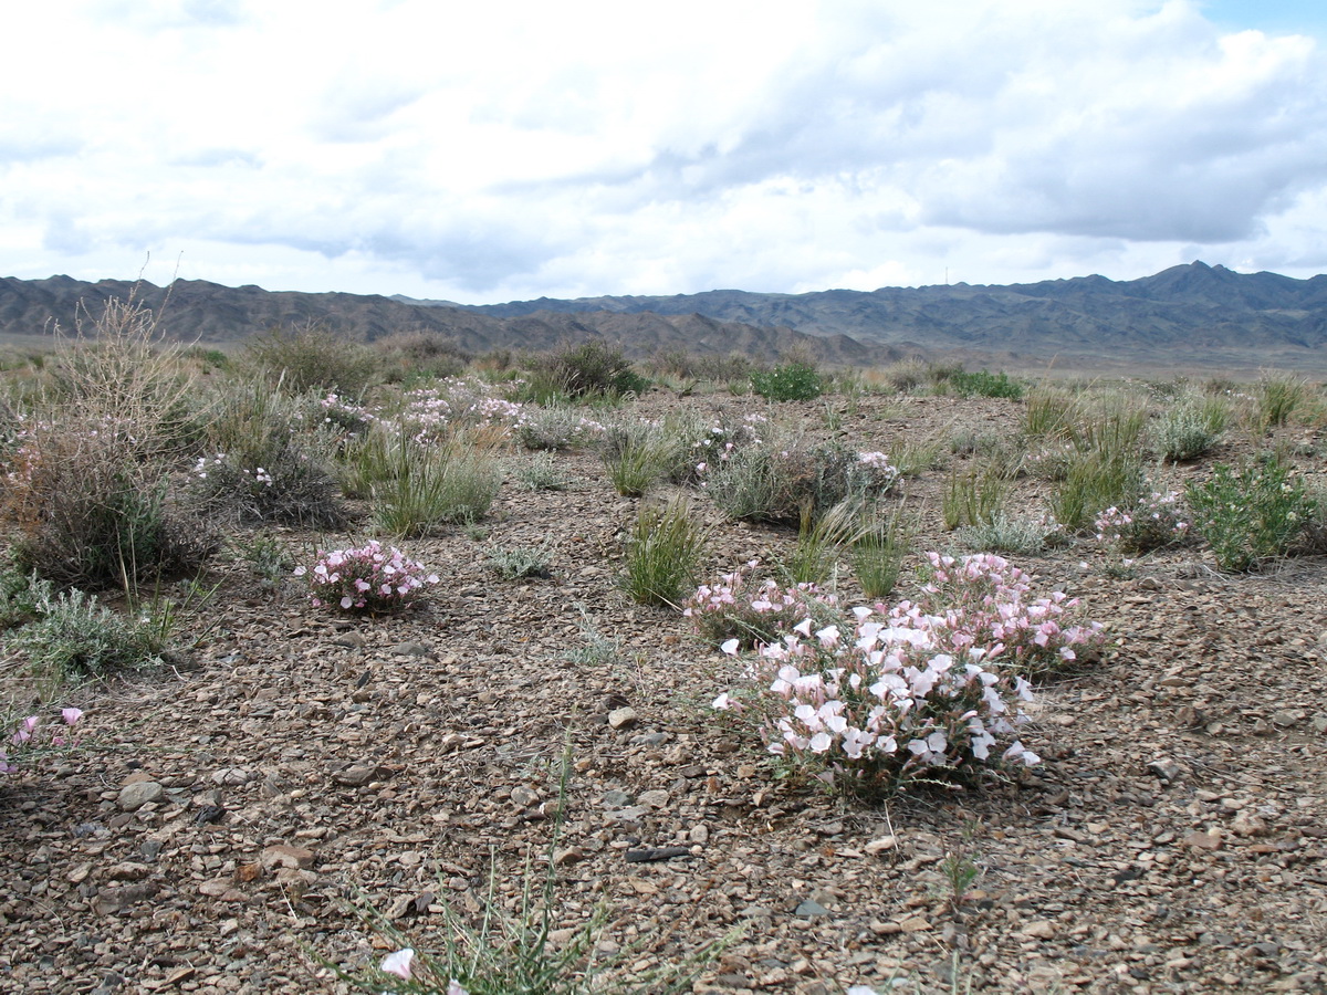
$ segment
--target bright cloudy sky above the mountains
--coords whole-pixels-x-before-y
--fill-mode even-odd
[[[483,304],[1327,272],[1322,0],[49,0],[0,276]]]

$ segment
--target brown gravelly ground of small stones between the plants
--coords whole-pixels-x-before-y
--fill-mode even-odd
[[[764,410],[660,391],[640,407],[674,403]],[[823,402],[780,411],[824,430]],[[888,450],[1018,417],[868,398],[839,431]],[[1089,541],[1010,557],[1082,598],[1113,647],[1040,689],[1023,736],[1039,767],[864,808],[775,780],[754,738],[715,723],[729,665],[616,588],[636,501],[592,455],[559,462],[571,490],[508,482],[487,535],[406,544],[445,578],[411,613],[314,610],[222,557],[194,649],[72,691],[82,746],[0,785],[0,990],[346,991],[318,958],[357,970],[391,949],[356,906],[437,949],[446,909],[478,911],[491,876],[515,909],[552,857],[555,939],[605,907],[600,949],[634,970],[743,926],[697,991],[1327,991],[1322,557],[1257,576],[1196,547],[1131,566]],[[953,544],[946,472],[905,482],[918,552]],[[1023,487],[1035,507],[1042,486]],[[707,574],[791,543],[698,508]],[[280,533],[305,561],[366,536]],[[486,563],[545,537],[548,578]]]

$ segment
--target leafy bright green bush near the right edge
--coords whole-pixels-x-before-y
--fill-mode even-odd
[[[1218,463],[1206,480],[1189,484],[1185,499],[1193,509],[1194,531],[1222,570],[1249,570],[1285,556],[1314,516],[1303,482],[1291,478],[1290,467],[1277,459],[1238,470]]]

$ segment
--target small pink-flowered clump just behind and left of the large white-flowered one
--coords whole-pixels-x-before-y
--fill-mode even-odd
[[[752,560],[748,570],[759,565]],[[828,617],[837,598],[821,593],[815,584],[779,586],[776,581],[756,582],[742,570],[725,573],[714,585],[702,584],[686,601],[682,614],[707,641],[719,645],[736,638],[751,647],[775,642],[782,633],[808,617]]]

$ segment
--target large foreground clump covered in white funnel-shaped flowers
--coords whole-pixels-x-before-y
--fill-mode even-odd
[[[803,620],[758,650],[748,675],[756,695],[721,694],[714,707],[752,710],[771,754],[840,791],[877,796],[917,777],[942,777],[999,760],[1035,764],[1014,738],[1026,719],[1016,700],[1031,687],[967,646],[947,653],[943,620],[896,626],[869,608],[855,622],[812,631]],[[723,645],[730,654],[738,641]],[[994,751],[994,752],[993,752]]]

